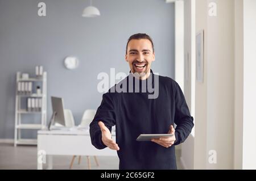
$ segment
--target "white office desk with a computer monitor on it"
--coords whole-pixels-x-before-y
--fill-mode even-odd
[[[115,140],[115,134],[112,135]],[[38,170],[43,169],[43,163],[48,163],[47,169],[52,169],[52,155],[97,155],[116,156],[117,151],[105,148],[96,149],[91,141],[89,130],[75,129],[38,131]]]

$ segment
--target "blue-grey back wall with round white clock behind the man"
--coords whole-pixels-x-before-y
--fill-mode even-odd
[[[50,96],[64,98],[76,124],[88,108],[97,109],[102,94],[97,91],[100,72],[129,73],[125,47],[130,35],[148,33],[155,44],[152,70],[174,77],[174,5],[164,0],[94,0],[98,18],[82,18],[85,0],[43,0],[47,16],[38,16],[33,0],[0,0],[0,138],[14,137],[15,73],[34,75],[35,66],[48,73],[48,120]],[[76,70],[67,70],[63,60],[79,57]],[[36,120],[32,121],[35,123]],[[24,137],[35,137],[27,131]]]

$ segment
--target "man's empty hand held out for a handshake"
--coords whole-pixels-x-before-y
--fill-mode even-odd
[[[119,150],[119,146],[112,140],[111,133],[105,124],[102,123],[102,121],[99,121],[98,125],[101,128],[101,140],[104,145],[108,146],[108,148],[112,150]]]

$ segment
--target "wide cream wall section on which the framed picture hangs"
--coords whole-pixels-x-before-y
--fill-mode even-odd
[[[196,0],[200,30],[204,82],[196,81],[195,169],[233,169],[234,1]]]

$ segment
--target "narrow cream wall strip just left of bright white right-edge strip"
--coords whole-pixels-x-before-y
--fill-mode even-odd
[[[243,150],[243,0],[235,1],[234,169],[242,169]]]

